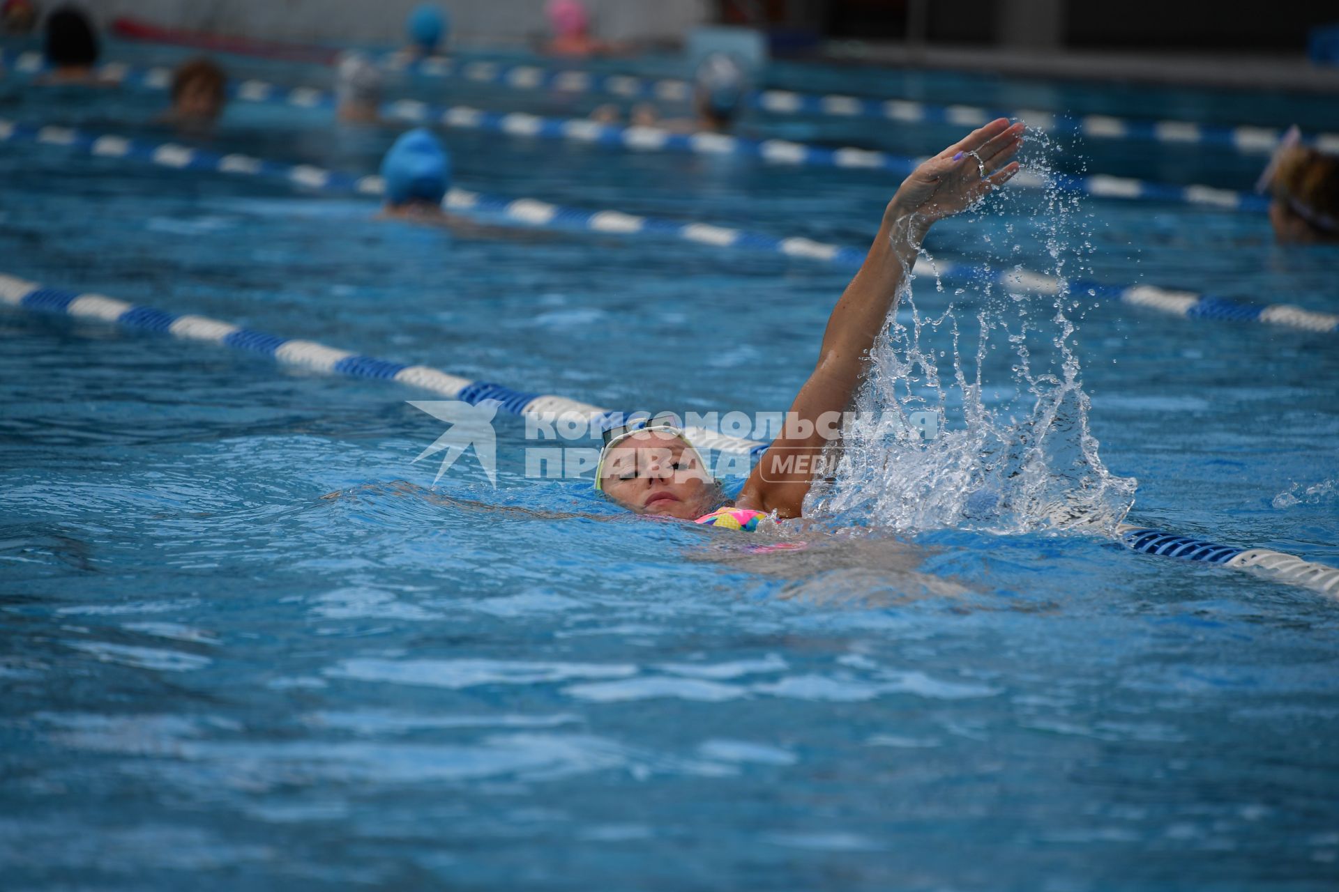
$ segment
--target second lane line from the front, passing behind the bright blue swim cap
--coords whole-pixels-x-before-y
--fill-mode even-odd
[[[94,135],[71,127],[24,124],[0,118],[0,143],[35,142],[80,148],[107,158],[134,158],[163,167],[205,170],[242,177],[272,177],[295,186],[332,193],[382,195],[380,177],[355,177],[312,164],[288,164],[250,155],[220,155],[204,148],[177,143],[145,143],[115,135]],[[505,198],[485,195],[462,189],[446,194],[443,206],[451,211],[483,211],[505,217],[529,227],[584,230],[604,235],[676,238],[720,249],[754,250],[783,257],[832,263],[854,269],[865,259],[865,253],[853,247],[829,245],[810,238],[777,238],[762,233],[718,226],[714,223],[679,222],[639,217],[617,210],[590,211],[578,207],[550,205],[533,198]],[[935,261],[917,261],[917,275],[939,275],[945,280],[994,281],[1007,289],[1039,294],[1090,293],[1102,300],[1115,300],[1131,306],[1160,310],[1184,318],[1227,320],[1237,322],[1265,322],[1315,333],[1339,333],[1339,316],[1306,310],[1289,304],[1248,304],[1212,294],[1172,290],[1153,285],[1122,288],[1087,280],[1060,280],[1030,270],[996,270]]]

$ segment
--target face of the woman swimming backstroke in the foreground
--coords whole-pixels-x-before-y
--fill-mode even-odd
[[[633,433],[609,449],[604,493],[637,514],[696,520],[716,506],[715,480],[687,443],[664,431]]]

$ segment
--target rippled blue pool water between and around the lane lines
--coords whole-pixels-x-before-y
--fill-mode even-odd
[[[777,79],[1324,124],[1276,96]],[[159,102],[0,82],[0,116],[145,139],[171,136],[153,124]],[[750,126],[908,154],[955,136]],[[394,135],[236,106],[209,144],[368,173]],[[485,134],[450,146],[469,189],[860,247],[896,187]],[[1085,158],[1233,189],[1260,164],[1152,146],[1048,155],[1069,171]],[[849,275],[672,241],[458,238],[374,213],[0,148],[3,273],[615,408],[785,408]],[[1052,223],[1006,202],[929,247],[1018,245],[1042,269]],[[1101,281],[1339,304],[1339,249],[1279,247],[1261,217],[1087,201],[1062,235],[1091,242]],[[916,305],[971,308],[979,292],[923,278]],[[1102,459],[1138,480],[1131,520],[1339,564],[1332,336],[1119,304],[1070,316]],[[987,361],[995,380],[1008,365]],[[5,888],[1339,879],[1339,604],[1308,590],[1102,536],[937,528],[758,551],[528,479],[524,425],[505,417],[497,489],[469,459],[432,485],[435,465],[412,463],[441,433],[406,404],[422,393],[94,322],[0,310],[0,374]]]

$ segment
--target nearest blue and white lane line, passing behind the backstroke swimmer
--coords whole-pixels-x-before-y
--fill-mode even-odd
[[[491,400],[498,408],[522,417],[538,417],[546,421],[573,419],[599,424],[621,415],[564,396],[529,393],[489,381],[470,381],[427,365],[404,365],[360,356],[315,341],[266,334],[205,316],[177,316],[149,306],[135,306],[104,294],[76,294],[44,288],[15,275],[0,274],[0,305],[39,313],[64,314],[79,320],[95,320],[134,332],[151,332],[186,341],[230,346],[237,350],[260,353],[280,364],[296,365],[312,372],[395,381],[470,404]],[[688,428],[686,433],[699,448],[749,453],[754,459],[769,445],[758,440],[731,437],[706,428]],[[1327,595],[1339,595],[1339,567],[1307,562],[1296,555],[1268,548],[1218,546],[1133,524],[1121,524],[1117,527],[1117,535],[1134,551],[1240,570],[1256,568],[1268,572],[1280,582],[1306,586]]]

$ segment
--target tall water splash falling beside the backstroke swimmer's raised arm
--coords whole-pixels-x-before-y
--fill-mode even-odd
[[[939,225],[949,231],[931,241],[979,245],[987,257],[945,305],[944,277],[921,250],[917,269],[929,267],[935,292],[917,302],[904,289],[870,350],[837,471],[810,489],[806,515],[900,532],[1113,534],[1130,510],[1134,479],[1107,471],[1089,428],[1071,318],[1083,301],[1063,280],[1089,273],[1093,219],[1055,187],[1058,151],[1030,131],[1024,173],[1046,187],[1006,189]],[[999,284],[999,270],[1022,271],[1019,258],[1038,254],[1040,271],[1062,281],[1054,294],[1008,275]],[[937,441],[920,443],[908,424],[916,409],[944,416]]]

